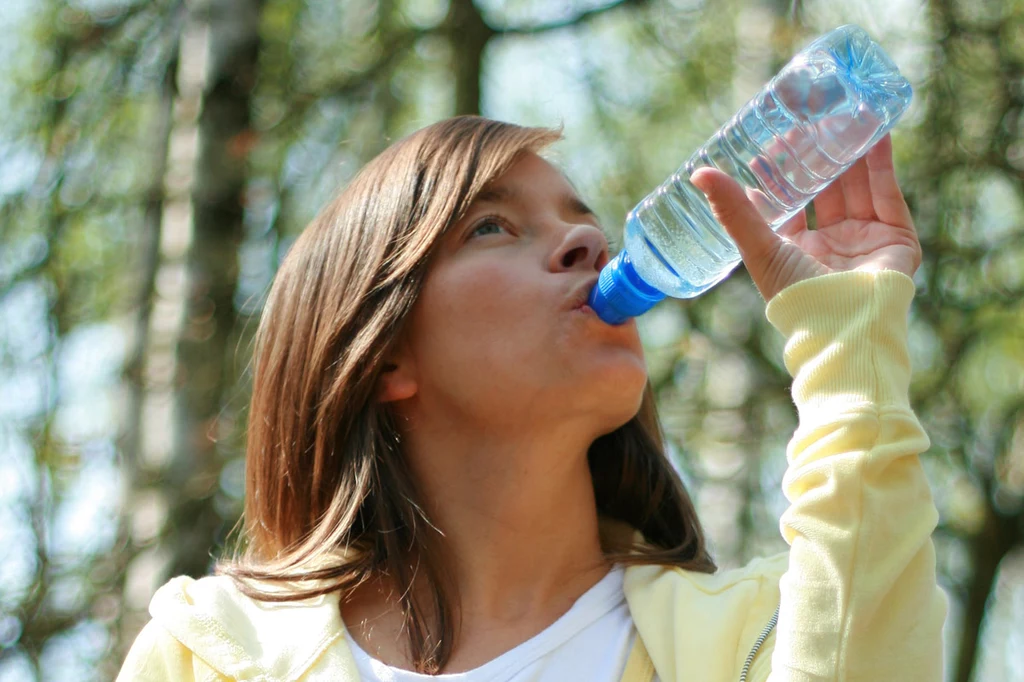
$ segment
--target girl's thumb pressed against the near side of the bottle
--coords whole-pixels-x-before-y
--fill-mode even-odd
[[[771,230],[738,182],[717,168],[697,169],[690,182],[708,197],[715,218],[736,243],[748,269],[778,249],[781,238]]]

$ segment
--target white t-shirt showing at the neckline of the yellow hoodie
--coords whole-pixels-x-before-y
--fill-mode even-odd
[[[623,576],[616,566],[543,631],[465,673],[431,676],[392,668],[345,636],[365,682],[618,682],[636,639]]]

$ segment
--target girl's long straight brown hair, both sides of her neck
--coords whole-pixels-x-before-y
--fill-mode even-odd
[[[520,155],[559,137],[478,117],[436,123],[367,164],[302,232],[256,333],[245,548],[215,572],[264,601],[344,596],[386,574],[401,595],[416,669],[443,669],[458,595],[375,387],[440,237]],[[639,413],[595,440],[589,462],[602,517],[639,531],[602,536],[610,560],[715,570],[649,385]],[[412,589],[424,579],[427,604]]]

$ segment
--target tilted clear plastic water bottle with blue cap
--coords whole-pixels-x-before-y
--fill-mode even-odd
[[[910,94],[862,29],[848,25],[821,36],[630,211],[625,248],[601,270],[590,306],[621,324],[667,295],[698,296],[739,263],[735,243],[690,184],[697,168],[737,180],[778,229],[896,124]]]

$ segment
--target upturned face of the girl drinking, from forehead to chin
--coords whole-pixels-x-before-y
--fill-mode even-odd
[[[584,305],[608,261],[596,216],[551,164],[524,155],[438,247],[399,367],[418,411],[477,428],[629,421],[647,380],[633,321]]]

